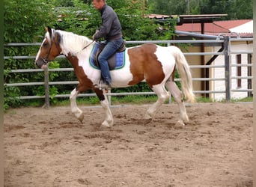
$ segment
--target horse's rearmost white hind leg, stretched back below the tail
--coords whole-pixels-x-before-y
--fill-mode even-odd
[[[168,81],[165,83],[165,86],[168,88],[168,91],[171,92],[171,95],[174,96],[174,99],[179,105],[180,120],[178,120],[178,123],[181,123],[182,125],[184,125],[184,123],[189,122],[189,117],[186,114],[186,108],[183,102],[182,93],[180,89],[177,87],[176,83],[171,79],[168,79]]]

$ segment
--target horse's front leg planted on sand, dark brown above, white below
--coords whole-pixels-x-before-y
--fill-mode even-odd
[[[103,123],[101,123],[102,126],[111,127],[114,124],[112,112],[109,108],[109,101],[106,96],[105,90],[96,89],[94,90],[97,94],[98,98],[100,99],[100,104],[103,107],[103,110],[105,111],[105,120]]]

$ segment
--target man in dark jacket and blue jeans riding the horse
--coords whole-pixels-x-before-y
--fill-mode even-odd
[[[109,73],[109,64],[107,60],[121,47],[123,43],[121,23],[115,11],[112,7],[106,4],[105,0],[91,1],[94,4],[94,7],[97,10],[100,10],[102,19],[102,25],[100,26],[100,29],[95,32],[93,40],[98,40],[101,37],[104,37],[106,40],[106,46],[98,58],[101,76],[103,83],[111,85],[112,79]]]

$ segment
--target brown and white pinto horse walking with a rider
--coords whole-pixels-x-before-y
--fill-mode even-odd
[[[84,114],[76,105],[76,96],[91,89],[100,99],[100,104],[105,111],[105,120],[103,120],[101,126],[111,127],[114,120],[106,97],[106,89],[99,87],[100,69],[91,66],[89,63],[95,43],[97,42],[73,32],[46,27],[46,34],[37,52],[34,64],[44,69],[49,61],[53,61],[58,55],[64,55],[73,65],[74,73],[79,82],[70,93],[72,113],[82,123]],[[191,71],[183,52],[176,46],[158,46],[153,43],[145,43],[140,46],[127,47],[124,55],[124,67],[110,71],[112,88],[125,88],[145,81],[156,93],[157,99],[147,109],[144,120],[150,122],[153,115],[171,93],[180,110],[180,118],[177,123],[183,125],[188,123],[189,117],[186,114],[183,99],[192,103],[195,102],[195,95],[192,91]],[[180,74],[182,91],[174,82],[174,70],[176,69]]]

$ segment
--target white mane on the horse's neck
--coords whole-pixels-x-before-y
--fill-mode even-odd
[[[61,36],[60,46],[62,53],[64,55],[76,55],[77,52],[80,52],[88,43],[91,43],[88,37],[74,34],[73,32],[56,30],[56,32]]]

